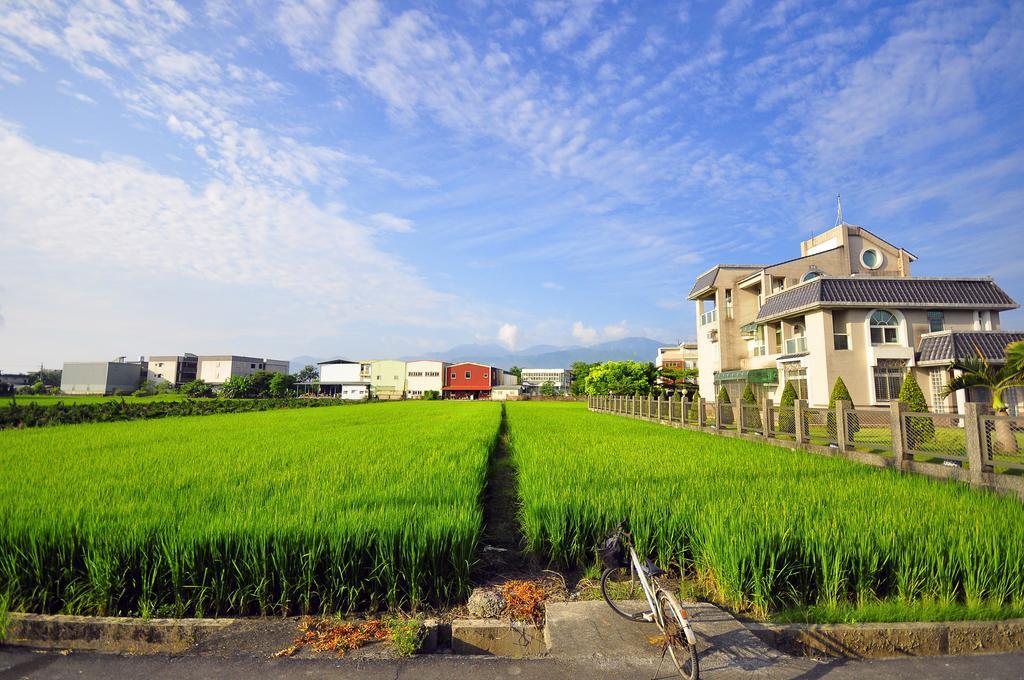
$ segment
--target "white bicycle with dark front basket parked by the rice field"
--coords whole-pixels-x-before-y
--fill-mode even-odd
[[[601,595],[611,610],[634,622],[657,624],[662,631],[662,663],[665,655],[672,656],[679,675],[697,680],[700,668],[697,662],[696,636],[679,605],[676,596],[662,588],[657,577],[667,573],[650,559],[640,563],[633,548],[633,535],[628,521],[623,520],[600,549],[605,569],[601,575]],[[643,593],[649,608],[644,608],[638,595]],[[662,671],[658,665],[658,673]]]

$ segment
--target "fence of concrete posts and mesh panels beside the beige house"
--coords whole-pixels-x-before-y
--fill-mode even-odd
[[[593,412],[839,455],[878,467],[954,479],[1024,501],[1024,417],[968,403],[963,414],[910,413],[906,405],[835,409],[720,403],[653,396],[590,396]]]

